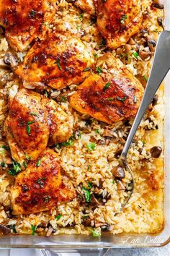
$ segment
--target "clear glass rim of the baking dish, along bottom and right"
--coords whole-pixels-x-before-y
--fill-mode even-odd
[[[165,28],[170,30],[170,1],[165,4]],[[170,43],[170,42],[169,42]],[[170,49],[170,47],[169,47]],[[4,236],[0,239],[0,248],[37,248],[52,249],[53,252],[69,251],[75,249],[94,250],[101,255],[102,248],[120,247],[160,247],[170,242],[170,72],[165,80],[165,119],[164,119],[164,230],[160,234],[104,234],[100,238],[84,235],[58,235],[58,236]],[[72,252],[73,252],[72,251]],[[44,255],[46,252],[44,250]],[[88,253],[89,254],[89,253]],[[60,254],[61,255],[61,254]],[[86,255],[86,254],[85,254]]]

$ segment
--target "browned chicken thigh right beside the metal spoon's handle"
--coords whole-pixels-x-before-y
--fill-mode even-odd
[[[135,116],[143,86],[112,54],[105,54],[97,63],[98,72],[107,65],[107,73],[91,74],[71,95],[70,103],[82,114],[112,124]]]

